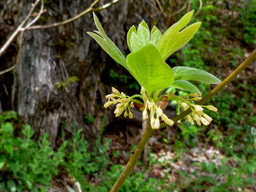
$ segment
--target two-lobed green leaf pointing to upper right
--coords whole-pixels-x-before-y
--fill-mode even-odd
[[[164,60],[166,60],[173,52],[179,50],[182,46],[188,43],[200,27],[201,22],[197,22],[180,31],[188,24],[193,12],[194,10],[190,11],[177,23],[174,23],[174,25],[167,29],[157,44],[157,49],[161,52]]]

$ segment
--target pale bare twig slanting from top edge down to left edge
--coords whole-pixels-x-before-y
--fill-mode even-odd
[[[7,39],[5,44],[0,49],[0,57],[4,54],[6,49],[10,46],[10,44],[13,42],[14,38],[20,33],[20,29],[23,27],[23,25],[28,21],[28,19],[31,17],[31,14],[33,13],[36,5],[38,4],[40,0],[36,0],[34,4],[32,4],[32,7],[27,15],[27,17],[20,23],[18,28],[13,32],[13,34]]]

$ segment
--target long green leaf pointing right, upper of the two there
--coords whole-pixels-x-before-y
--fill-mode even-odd
[[[174,79],[177,80],[195,80],[205,83],[219,84],[220,79],[204,70],[191,67],[174,67],[172,68]]]

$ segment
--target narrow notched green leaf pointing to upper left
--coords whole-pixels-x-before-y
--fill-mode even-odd
[[[87,32],[87,34],[91,35],[95,39],[95,41],[99,43],[102,49],[105,50],[110,55],[111,58],[113,58],[116,62],[121,64],[124,68],[129,70],[129,72],[131,73],[131,70],[126,65],[126,60],[124,55],[121,53],[121,51],[119,51],[117,46],[107,37],[105,31],[103,30],[100,24],[99,19],[94,13],[93,13],[93,18],[95,21],[95,25],[97,26],[97,29],[99,31],[94,31],[97,34],[92,32]]]

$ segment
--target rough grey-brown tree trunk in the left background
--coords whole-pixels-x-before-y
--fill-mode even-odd
[[[47,1],[47,11],[37,24],[44,25],[74,17],[92,2]],[[107,2],[109,1],[100,1],[96,6]],[[30,4],[30,0],[0,2],[2,45],[26,17]],[[134,15],[145,16],[137,1],[126,0],[96,14],[109,38],[124,53],[127,51],[127,30],[142,20]],[[31,125],[35,131],[36,140],[48,133],[54,146],[62,124],[66,124],[65,131],[68,132],[73,127],[83,129],[88,140],[99,133],[105,114],[102,104],[106,101],[106,93],[110,93],[108,82],[102,82],[101,77],[107,60],[114,67],[116,64],[86,34],[86,31],[95,29],[92,13],[89,13],[58,28],[25,31],[19,66],[12,73],[0,76],[0,111],[18,111],[23,122]],[[16,54],[17,43],[14,42],[0,58],[1,70],[14,65]],[[55,84],[65,82],[70,76],[77,76],[79,80],[69,83],[66,89],[57,89]],[[86,114],[94,116],[95,121],[85,124]]]

